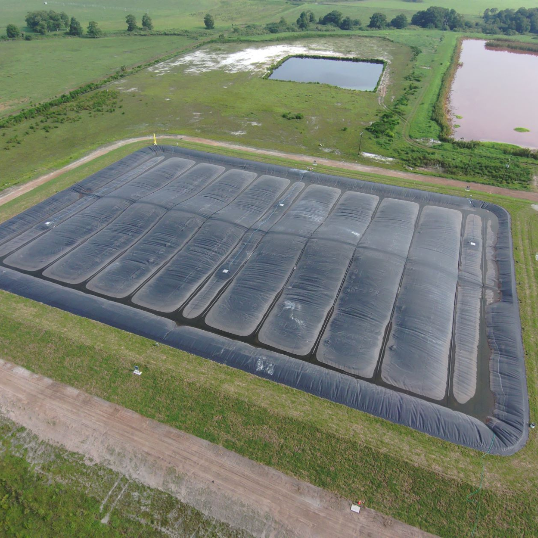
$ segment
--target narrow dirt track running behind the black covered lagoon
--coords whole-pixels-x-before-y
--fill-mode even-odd
[[[258,154],[258,155],[273,155],[274,157],[282,157],[282,158],[291,159],[294,161],[307,162],[309,165],[312,165],[314,161],[314,157],[311,157],[309,155],[285,153],[281,151],[272,151],[272,150],[260,150],[255,147],[242,146],[239,144],[232,144],[230,142],[221,142],[217,140],[209,140],[207,138],[183,136],[182,134],[162,134],[162,135],[159,135],[157,138],[158,139],[172,139],[172,140],[186,140],[189,142],[196,142],[199,144],[206,144],[209,146],[225,147],[231,150],[246,151],[246,152]],[[67,166],[64,166],[63,168],[60,168],[53,172],[49,172],[48,174],[42,175],[37,179],[24,183],[24,185],[20,185],[18,187],[13,187],[10,189],[5,189],[2,193],[0,193],[0,206],[9,202],[10,200],[17,198],[18,196],[24,193],[29,192],[30,190],[36,188],[39,185],[43,185],[43,183],[46,183],[47,181],[50,181],[51,179],[57,178],[59,175],[63,174],[64,172],[73,170],[74,168],[77,168],[85,164],[86,162],[89,162],[97,157],[100,157],[101,155],[104,155],[112,150],[116,150],[119,147],[126,146],[128,144],[133,144],[135,142],[143,142],[144,140],[147,140],[148,144],[151,144],[153,141],[153,138],[138,137],[138,138],[126,138],[124,140],[117,140],[116,142],[107,144],[105,146],[97,148],[97,150],[91,151],[85,157],[82,157],[81,159],[77,159],[76,161],[73,161],[72,163],[68,164]],[[323,157],[316,157],[315,160],[317,164],[330,166],[332,168],[343,168],[346,170],[353,170],[356,172],[367,172],[371,174],[385,175],[391,178],[402,178],[402,179],[417,181],[421,183],[433,183],[434,185],[449,185],[451,187],[459,187],[462,190],[465,188],[466,185],[469,185],[473,191],[485,192],[485,193],[490,193],[490,194],[501,194],[504,196],[512,196],[513,198],[518,198],[521,200],[529,200],[531,202],[538,202],[538,193],[529,193],[523,190],[505,189],[502,187],[494,187],[491,185],[482,185],[481,183],[464,183],[463,181],[458,181],[456,179],[440,178],[435,175],[422,175],[422,174],[415,174],[413,172],[401,172],[398,170],[389,170],[386,168],[380,168],[378,166],[359,165],[355,162],[345,162],[345,161],[338,161],[334,159],[325,159]]]

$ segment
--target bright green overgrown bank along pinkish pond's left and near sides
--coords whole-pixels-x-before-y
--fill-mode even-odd
[[[381,35],[390,36],[398,43],[415,44],[421,49],[413,70],[408,75],[416,81],[416,93],[409,98],[404,114],[400,115],[401,122],[395,129],[396,136],[379,140],[379,144],[385,146],[384,154],[397,157],[402,164],[462,181],[532,188],[533,176],[538,177],[536,159],[517,157],[512,161],[512,164],[516,162],[516,169],[507,171],[505,168],[509,155],[518,151],[515,146],[484,142],[472,148],[461,148],[451,143],[436,143],[433,147],[427,147],[429,140],[438,140],[443,134],[444,137],[450,136],[450,124],[455,121],[448,110],[447,100],[452,76],[457,69],[459,44],[466,38],[487,39],[487,36],[437,32],[437,43],[432,42],[435,34],[430,37],[430,43],[425,39],[426,36],[418,43],[412,32],[385,31]],[[518,36],[517,41],[523,44],[534,43],[529,36]],[[439,123],[434,121],[436,117]]]

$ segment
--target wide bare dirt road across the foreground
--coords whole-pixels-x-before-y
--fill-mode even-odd
[[[431,536],[369,508],[353,513],[312,484],[4,360],[0,413],[255,536]]]

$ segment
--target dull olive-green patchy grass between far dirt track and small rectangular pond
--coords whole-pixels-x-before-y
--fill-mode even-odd
[[[411,55],[406,45],[359,37],[324,37],[311,39],[310,43],[362,58],[389,58],[393,64],[389,68],[391,83],[387,98],[398,95],[404,86],[403,75]],[[198,53],[232,53],[247,47],[280,44],[215,43],[204,46]],[[36,118],[2,129],[0,169],[4,173],[0,188],[45,173],[62,162],[80,157],[88,148],[121,138],[150,136],[153,132],[183,133],[352,160],[359,133],[381,110],[377,95],[371,92],[326,84],[263,80],[263,70],[253,74],[215,69],[193,75],[185,73],[187,67],[176,65],[162,75],[144,69],[110,84],[109,89],[119,91],[114,112],[92,109],[71,112],[69,103],[58,110],[81,121],[59,123],[65,118],[59,116],[41,123]],[[302,114],[303,119],[289,122],[282,118],[288,110]],[[348,130],[343,131],[344,127]],[[363,148],[371,153],[379,153],[381,149],[368,136],[364,136]]]

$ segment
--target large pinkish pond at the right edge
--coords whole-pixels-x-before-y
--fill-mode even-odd
[[[538,148],[538,55],[487,49],[485,43],[462,44],[463,66],[450,94],[452,122],[460,125],[455,138]]]

